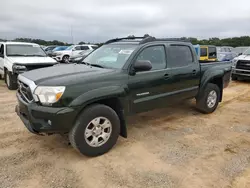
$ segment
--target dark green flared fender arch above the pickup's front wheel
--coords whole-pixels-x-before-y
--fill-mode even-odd
[[[124,97],[126,95],[125,87],[123,86],[108,86],[90,90],[74,99],[69,106],[86,106],[98,100]]]

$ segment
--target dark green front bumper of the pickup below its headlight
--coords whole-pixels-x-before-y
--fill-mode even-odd
[[[54,108],[25,102],[17,92],[16,113],[34,134],[67,133],[74,126],[78,108]]]

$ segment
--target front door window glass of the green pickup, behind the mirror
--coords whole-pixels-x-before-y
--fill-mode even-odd
[[[151,70],[166,68],[166,55],[164,46],[150,46],[145,48],[137,57],[138,60],[148,60],[152,64]]]

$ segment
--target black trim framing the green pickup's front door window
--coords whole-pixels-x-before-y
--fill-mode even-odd
[[[130,66],[130,70],[133,68],[133,65],[134,63],[136,62],[138,56],[141,54],[142,51],[144,51],[146,48],[150,48],[150,47],[154,47],[154,46],[161,46],[164,48],[164,54],[165,54],[165,67],[162,68],[162,69],[156,69],[156,70],[149,70],[149,71],[143,71],[143,72],[138,72],[136,74],[142,74],[142,73],[150,73],[150,72],[157,72],[157,71],[162,71],[162,70],[166,70],[167,69],[167,53],[166,53],[166,45],[163,44],[163,43],[160,43],[160,44],[151,44],[151,45],[146,45],[144,46],[143,48],[141,48],[135,55],[135,57],[133,58],[132,62],[131,63],[131,66]]]

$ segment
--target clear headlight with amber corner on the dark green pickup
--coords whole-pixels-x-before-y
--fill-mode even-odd
[[[62,97],[64,91],[64,86],[38,86],[35,89],[34,94],[37,95],[42,104],[51,105]]]

